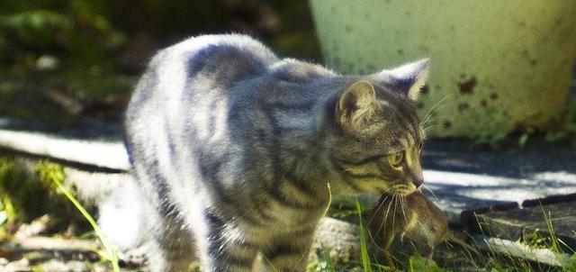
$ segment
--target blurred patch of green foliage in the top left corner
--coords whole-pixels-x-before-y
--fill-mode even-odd
[[[4,0],[0,53],[14,60],[26,52],[101,59],[125,42],[105,10],[103,1]]]

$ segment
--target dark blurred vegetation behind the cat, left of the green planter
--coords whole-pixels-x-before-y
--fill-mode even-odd
[[[117,122],[158,49],[227,32],[320,62],[306,1],[3,0],[0,115],[44,125]]]

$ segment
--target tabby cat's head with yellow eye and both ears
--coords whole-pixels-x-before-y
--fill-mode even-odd
[[[424,141],[416,99],[428,59],[356,80],[338,97],[332,164],[356,192],[408,195],[422,185]]]

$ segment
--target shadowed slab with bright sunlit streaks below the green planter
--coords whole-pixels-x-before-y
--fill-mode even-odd
[[[437,140],[427,142],[422,159],[425,193],[452,222],[460,222],[464,211],[576,193],[576,150],[562,144],[482,150],[469,141]]]

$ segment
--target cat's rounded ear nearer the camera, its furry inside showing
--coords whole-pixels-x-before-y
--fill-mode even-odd
[[[340,95],[336,120],[345,131],[364,131],[374,122],[379,108],[374,86],[358,81]]]

